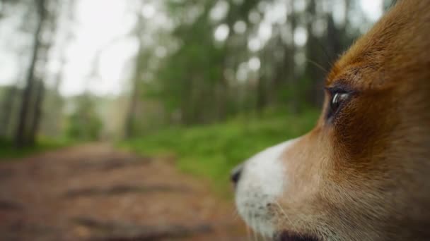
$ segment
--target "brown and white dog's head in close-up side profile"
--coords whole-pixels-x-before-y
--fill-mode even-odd
[[[233,180],[240,216],[265,236],[429,240],[429,1],[389,11],[327,75],[315,128]]]

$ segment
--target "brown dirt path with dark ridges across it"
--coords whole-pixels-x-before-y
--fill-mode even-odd
[[[105,144],[0,161],[0,240],[246,240],[234,206],[168,161]]]

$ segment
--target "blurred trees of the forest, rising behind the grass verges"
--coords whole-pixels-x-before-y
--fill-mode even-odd
[[[130,0],[127,32],[93,49],[81,92],[65,95],[62,85],[74,81],[64,75],[79,38],[79,4],[1,1],[2,49],[12,57],[2,63],[12,68],[2,77],[0,135],[18,148],[45,137],[124,140],[265,111],[318,109],[330,65],[375,20],[361,1]],[[381,1],[379,14],[390,4]],[[122,89],[94,94],[109,81],[100,76],[103,51],[126,40],[133,53]]]

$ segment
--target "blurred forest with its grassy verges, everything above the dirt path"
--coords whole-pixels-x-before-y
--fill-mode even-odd
[[[313,127],[327,71],[392,4],[0,0],[0,163],[108,144],[229,199],[230,169]]]

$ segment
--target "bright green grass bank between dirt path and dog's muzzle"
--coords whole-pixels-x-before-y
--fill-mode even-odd
[[[169,128],[122,143],[137,154],[175,156],[180,170],[208,178],[217,191],[229,190],[231,168],[279,142],[308,132],[316,111],[298,116],[240,117],[226,123]]]

